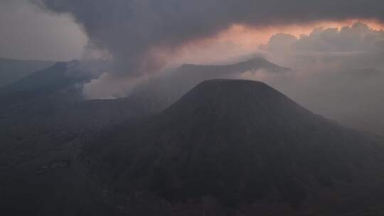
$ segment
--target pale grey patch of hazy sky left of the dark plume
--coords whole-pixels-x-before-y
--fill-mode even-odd
[[[45,13],[26,0],[0,1],[0,57],[73,60],[86,43],[68,15]]]

